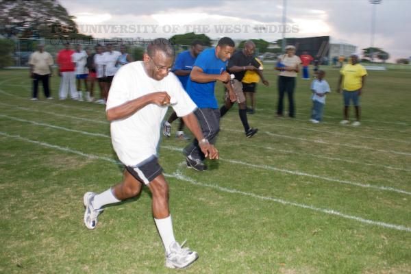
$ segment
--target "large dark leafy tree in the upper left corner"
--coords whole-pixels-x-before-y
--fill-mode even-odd
[[[0,34],[21,38],[89,38],[57,0],[0,1]]]

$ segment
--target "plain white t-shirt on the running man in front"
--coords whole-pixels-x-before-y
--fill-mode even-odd
[[[143,62],[136,61],[122,66],[116,73],[106,109],[158,91],[166,91],[171,102],[176,102],[173,109],[177,116],[186,116],[197,108],[173,73],[156,81],[147,75]],[[111,122],[112,145],[123,164],[134,166],[157,155],[161,122],[167,109],[151,103],[132,116]]]

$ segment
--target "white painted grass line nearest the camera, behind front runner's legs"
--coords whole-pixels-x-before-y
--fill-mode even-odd
[[[111,162],[113,164],[121,164],[121,163],[119,163],[118,161],[116,161],[112,158],[101,157],[101,156],[98,156],[98,155],[83,153],[81,151],[76,151],[74,149],[69,149],[67,147],[60,147],[58,145],[51,145],[47,142],[39,142],[39,141],[36,141],[36,140],[30,140],[28,138],[24,138],[24,137],[21,137],[21,136],[18,136],[18,135],[8,134],[6,132],[0,132],[0,135],[8,137],[8,138],[13,138],[15,140],[22,140],[22,141],[25,141],[25,142],[31,142],[33,144],[40,145],[42,147],[48,147],[48,148],[51,148],[51,149],[56,149],[56,150],[60,150],[60,151],[64,151],[64,152],[74,153],[76,155],[81,155],[81,156],[84,156],[84,157],[90,158],[90,159],[105,160],[105,161]],[[182,175],[182,173],[179,170],[177,170],[173,174],[164,173],[164,175],[166,177],[174,177],[175,179],[179,179],[179,180],[184,181],[184,182],[189,182],[190,184],[193,184],[193,185],[196,185],[196,186],[202,186],[202,187],[205,187],[205,188],[214,188],[216,190],[220,190],[221,192],[244,195],[244,196],[248,196],[248,197],[253,197],[255,199],[260,199],[262,201],[274,201],[276,203],[282,203],[285,206],[295,206],[297,208],[304,208],[304,209],[308,209],[308,210],[314,210],[316,212],[331,214],[331,215],[339,216],[339,217],[342,217],[342,218],[345,218],[345,219],[358,221],[360,223],[366,223],[366,224],[369,224],[369,225],[375,225],[375,226],[379,226],[379,227],[385,227],[385,228],[395,229],[395,230],[400,230],[400,231],[405,231],[405,232],[411,232],[411,227],[406,227],[404,225],[395,225],[395,224],[391,224],[391,223],[384,223],[384,222],[380,222],[380,221],[373,221],[373,220],[369,220],[369,219],[363,219],[363,218],[358,217],[358,216],[352,216],[352,215],[344,214],[344,213],[341,213],[341,212],[338,212],[338,211],[332,210],[332,209],[316,208],[316,207],[313,207],[313,206],[308,206],[308,205],[303,204],[303,203],[295,203],[295,202],[292,202],[292,201],[286,201],[286,200],[277,199],[277,198],[274,198],[274,197],[256,195],[256,194],[253,194],[251,192],[240,191],[240,190],[236,190],[236,189],[233,189],[233,188],[224,188],[224,187],[219,186],[217,184],[204,184],[204,183],[197,182],[194,179],[191,179],[189,177],[186,177],[186,176]]]

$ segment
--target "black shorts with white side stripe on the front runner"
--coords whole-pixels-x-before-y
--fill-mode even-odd
[[[147,158],[147,160],[140,162],[140,164],[137,164],[136,166],[125,166],[125,169],[143,184],[149,184],[163,171],[160,164],[158,164],[158,158],[155,155],[152,155],[150,158]]]

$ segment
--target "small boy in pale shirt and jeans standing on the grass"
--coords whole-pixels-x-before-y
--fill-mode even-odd
[[[324,79],[325,72],[318,71],[317,77],[311,83],[312,91],[312,114],[310,121],[320,123],[323,120],[323,110],[325,105],[325,95],[330,92],[329,85]]]

